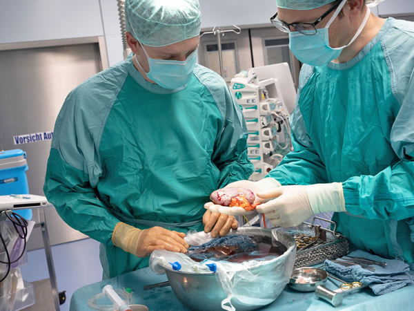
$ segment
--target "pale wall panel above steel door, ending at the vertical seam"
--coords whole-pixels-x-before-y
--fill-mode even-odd
[[[101,35],[99,0],[0,1],[0,44]]]

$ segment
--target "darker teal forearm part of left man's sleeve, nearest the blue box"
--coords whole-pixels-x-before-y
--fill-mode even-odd
[[[112,232],[119,220],[101,202],[83,171],[64,162],[57,149],[50,150],[43,190],[61,218],[79,232],[112,244]]]

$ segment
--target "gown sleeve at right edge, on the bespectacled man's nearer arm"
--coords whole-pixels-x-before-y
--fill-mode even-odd
[[[378,220],[414,217],[414,75],[391,129],[391,146],[399,162],[375,176],[355,176],[342,184],[351,214]]]

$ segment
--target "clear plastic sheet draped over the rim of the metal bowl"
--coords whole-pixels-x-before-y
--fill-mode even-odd
[[[282,292],[292,274],[296,254],[295,240],[288,234],[256,227],[239,228],[229,234],[271,236],[273,241],[282,243],[287,250],[276,258],[259,258],[242,263],[211,260],[197,263],[186,254],[161,250],[152,252],[150,268],[156,274],[163,274],[166,268],[174,269],[174,263],[179,263],[180,272],[198,273],[211,271],[210,268],[214,266],[217,286],[220,286],[224,292],[221,296],[226,297],[221,301],[221,308],[224,310],[234,311],[236,306],[259,308],[272,303]],[[191,232],[185,238],[189,245],[201,245],[211,239],[210,234],[204,232]]]

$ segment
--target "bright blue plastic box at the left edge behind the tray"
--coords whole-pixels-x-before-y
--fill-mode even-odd
[[[26,152],[20,149],[0,151],[0,196],[29,194],[27,170]],[[27,220],[32,219],[32,209],[15,212]]]

